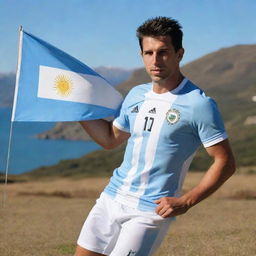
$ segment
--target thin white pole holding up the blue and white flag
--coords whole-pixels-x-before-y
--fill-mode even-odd
[[[18,95],[18,84],[19,84],[19,78],[20,78],[20,64],[21,64],[21,54],[22,54],[22,52],[21,52],[22,51],[22,31],[23,31],[23,28],[20,25],[19,26],[18,61],[17,61],[17,66],[16,66],[15,92],[14,92],[14,100],[13,100],[13,107],[12,107],[11,127],[10,127],[6,169],[5,169],[5,182],[4,182],[4,189],[3,189],[3,202],[2,202],[3,208],[5,208],[5,204],[6,204],[6,200],[7,200],[7,183],[8,183],[8,173],[9,173],[9,164],[10,164],[10,155],[11,155],[13,121],[14,121],[14,115],[15,115],[15,109],[16,109],[16,100],[17,100],[17,95]]]

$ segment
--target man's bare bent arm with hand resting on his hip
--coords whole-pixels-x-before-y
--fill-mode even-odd
[[[228,140],[208,147],[206,151],[214,162],[200,183],[179,198],[163,197],[157,200],[157,214],[166,218],[185,213],[190,207],[216,191],[235,172],[235,160]]]

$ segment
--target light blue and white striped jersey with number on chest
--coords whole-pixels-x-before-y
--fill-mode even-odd
[[[179,196],[201,144],[227,138],[216,103],[186,78],[162,94],[151,83],[134,87],[113,124],[131,136],[105,192],[143,211],[154,211],[161,197]]]

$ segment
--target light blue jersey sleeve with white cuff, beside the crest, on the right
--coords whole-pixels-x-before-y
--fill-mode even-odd
[[[228,137],[217,104],[211,98],[197,104],[192,122],[204,147],[213,146]]]

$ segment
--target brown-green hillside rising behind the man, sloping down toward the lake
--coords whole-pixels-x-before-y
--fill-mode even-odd
[[[218,102],[238,166],[256,166],[256,125],[253,122],[248,124],[248,117],[253,120],[256,116],[256,103],[252,101],[252,96],[256,95],[255,59],[256,45],[239,45],[213,52],[182,67],[182,72],[190,80]],[[117,88],[125,94],[127,88],[148,81],[144,69],[138,69]],[[98,151],[42,170],[44,174],[52,175],[57,170],[63,175],[88,175],[91,170],[113,170],[122,160],[122,150],[120,148],[114,153]],[[205,170],[209,163],[205,150],[200,149],[191,168]]]

